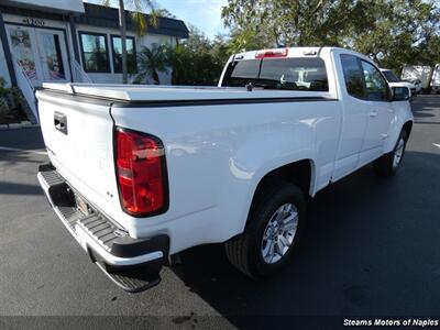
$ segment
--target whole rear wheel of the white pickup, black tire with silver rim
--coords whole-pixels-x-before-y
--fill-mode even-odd
[[[226,243],[229,261],[252,278],[285,266],[298,242],[306,212],[302,191],[280,183],[253,202],[244,233]]]

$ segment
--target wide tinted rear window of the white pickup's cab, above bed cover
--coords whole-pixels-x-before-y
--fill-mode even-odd
[[[321,58],[263,58],[234,61],[228,65],[222,86],[264,89],[328,91],[326,64]]]

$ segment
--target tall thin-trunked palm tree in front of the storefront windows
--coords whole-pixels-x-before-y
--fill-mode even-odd
[[[110,0],[103,0],[103,4],[109,7]],[[139,34],[145,34],[147,23],[156,26],[158,23],[158,15],[153,6],[152,0],[119,0],[119,26],[121,30],[121,57],[122,57],[122,84],[128,82],[128,65],[127,65],[127,22],[125,22],[125,4],[133,8],[132,20],[138,29]],[[150,8],[150,22],[145,21],[143,11]]]

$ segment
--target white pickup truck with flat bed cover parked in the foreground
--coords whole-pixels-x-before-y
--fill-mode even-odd
[[[413,127],[407,88],[334,47],[237,54],[218,87],[47,84],[36,97],[50,157],[41,186],[129,292],[206,243],[224,242],[253,278],[274,274],[307,199],[372,162],[394,175]]]

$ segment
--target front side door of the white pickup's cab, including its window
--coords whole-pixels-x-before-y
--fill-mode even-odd
[[[364,99],[369,114],[369,123],[359,162],[359,166],[363,166],[383,154],[394,108],[391,102],[388,84],[382,73],[370,62],[360,59],[360,63],[364,76]]]

